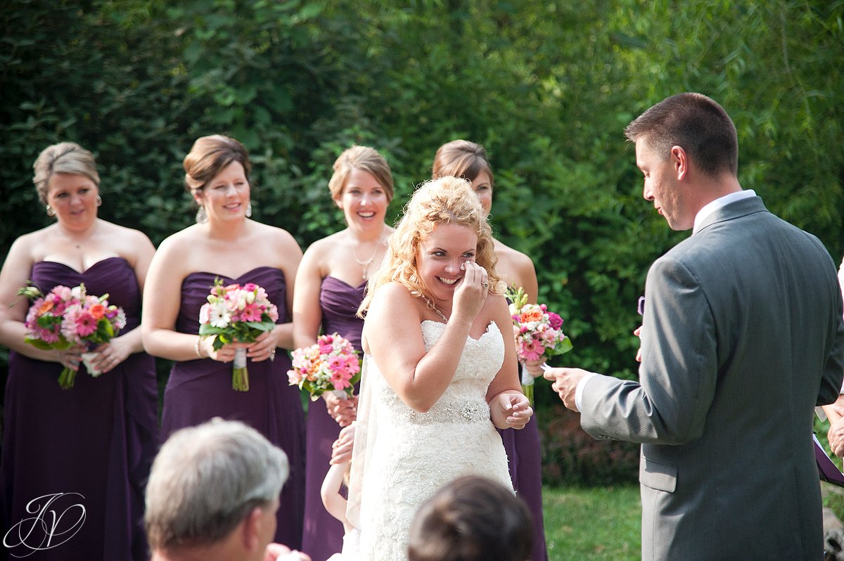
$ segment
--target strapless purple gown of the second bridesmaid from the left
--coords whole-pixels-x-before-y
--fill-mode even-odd
[[[199,308],[214,285],[214,278],[224,283],[256,283],[267,291],[279,307],[279,322],[287,316],[284,272],[274,267],[257,267],[239,278],[213,272],[192,272],[181,283],[181,309],[176,331],[199,331]],[[242,421],[267,437],[287,454],[290,477],[279,499],[278,527],[275,541],[290,548],[300,548],[302,509],[305,502],[305,415],[295,386],[289,386],[287,370],[290,359],[279,352],[274,361],[246,361],[249,391],[231,388],[231,363],[212,359],[177,362],[170,370],[164,393],[161,436],[165,439],[176,429],[190,427],[210,418]]]

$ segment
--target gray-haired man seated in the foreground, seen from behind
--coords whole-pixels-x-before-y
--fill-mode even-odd
[[[270,543],[288,475],[284,451],[244,423],[215,418],[177,430],[147,483],[152,561],[310,561]]]

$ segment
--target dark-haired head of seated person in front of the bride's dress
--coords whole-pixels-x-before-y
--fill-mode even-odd
[[[419,507],[408,561],[525,561],[532,548],[527,504],[492,479],[467,476]]]

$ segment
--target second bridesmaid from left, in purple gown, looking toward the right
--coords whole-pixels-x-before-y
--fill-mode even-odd
[[[185,184],[199,205],[197,224],[164,240],[144,289],[143,344],[176,361],[164,394],[161,433],[210,418],[240,420],[286,452],[290,477],[280,497],[275,541],[298,549],[304,503],[305,418],[299,391],[287,382],[293,346],[292,281],[301,250],[292,235],[251,220],[252,165],[241,143],[221,135],[197,139],[183,162]],[[255,343],[219,350],[199,337],[199,309],[215,278],[256,283],[279,307],[279,323]],[[287,318],[287,319],[285,319]],[[235,348],[247,349],[249,391],[231,386]],[[273,360],[274,359],[274,360]]]

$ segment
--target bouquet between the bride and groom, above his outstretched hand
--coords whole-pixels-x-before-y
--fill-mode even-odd
[[[519,360],[538,360],[571,351],[571,339],[562,332],[563,318],[544,304],[527,304],[522,288],[507,291],[516,352]],[[533,375],[522,369],[522,391],[533,403]]]

